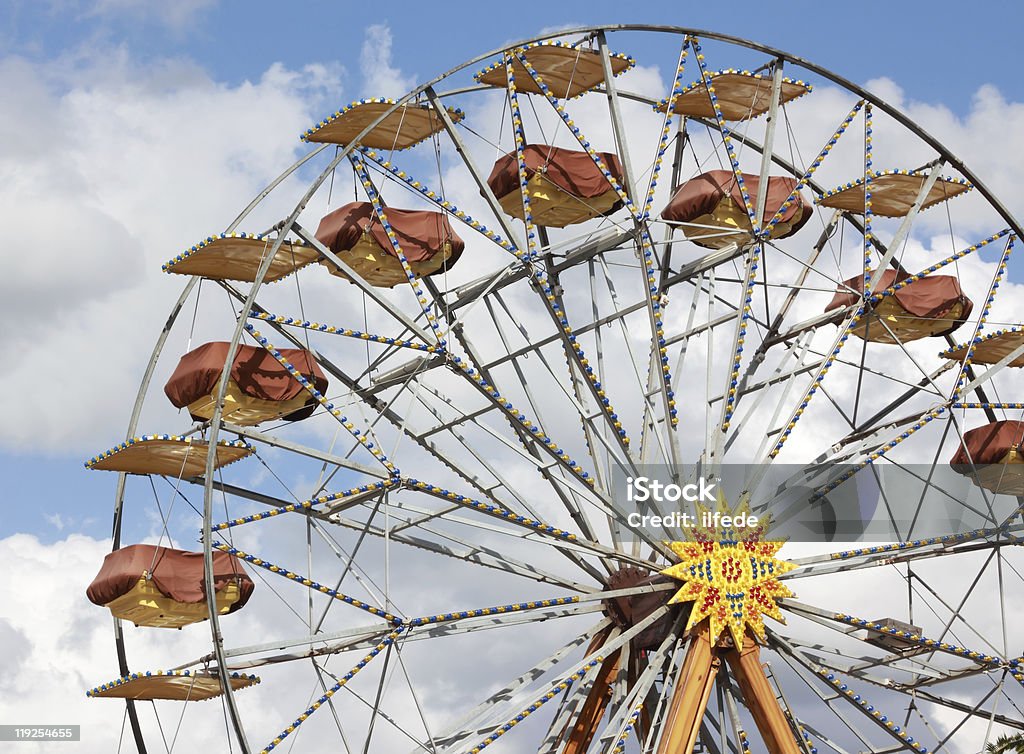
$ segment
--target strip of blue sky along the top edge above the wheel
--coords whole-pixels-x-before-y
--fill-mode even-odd
[[[0,43],[9,53],[41,60],[81,46],[124,46],[140,60],[189,58],[228,84],[258,76],[272,61],[301,68],[338,60],[355,68],[371,24],[390,27],[395,64],[419,74],[418,79],[547,27],[677,25],[773,45],[858,82],[894,77],[915,98],[940,101],[955,112],[967,108],[982,83],[1006,93],[1019,90],[1016,34],[1024,18],[1019,3],[986,3],[986,11],[976,13],[954,0],[727,5],[399,0],[375,4],[372,13],[366,12],[369,4],[349,0],[183,0],[170,4],[178,10],[161,12],[144,9],[151,5],[146,0],[7,0],[2,5]]]

